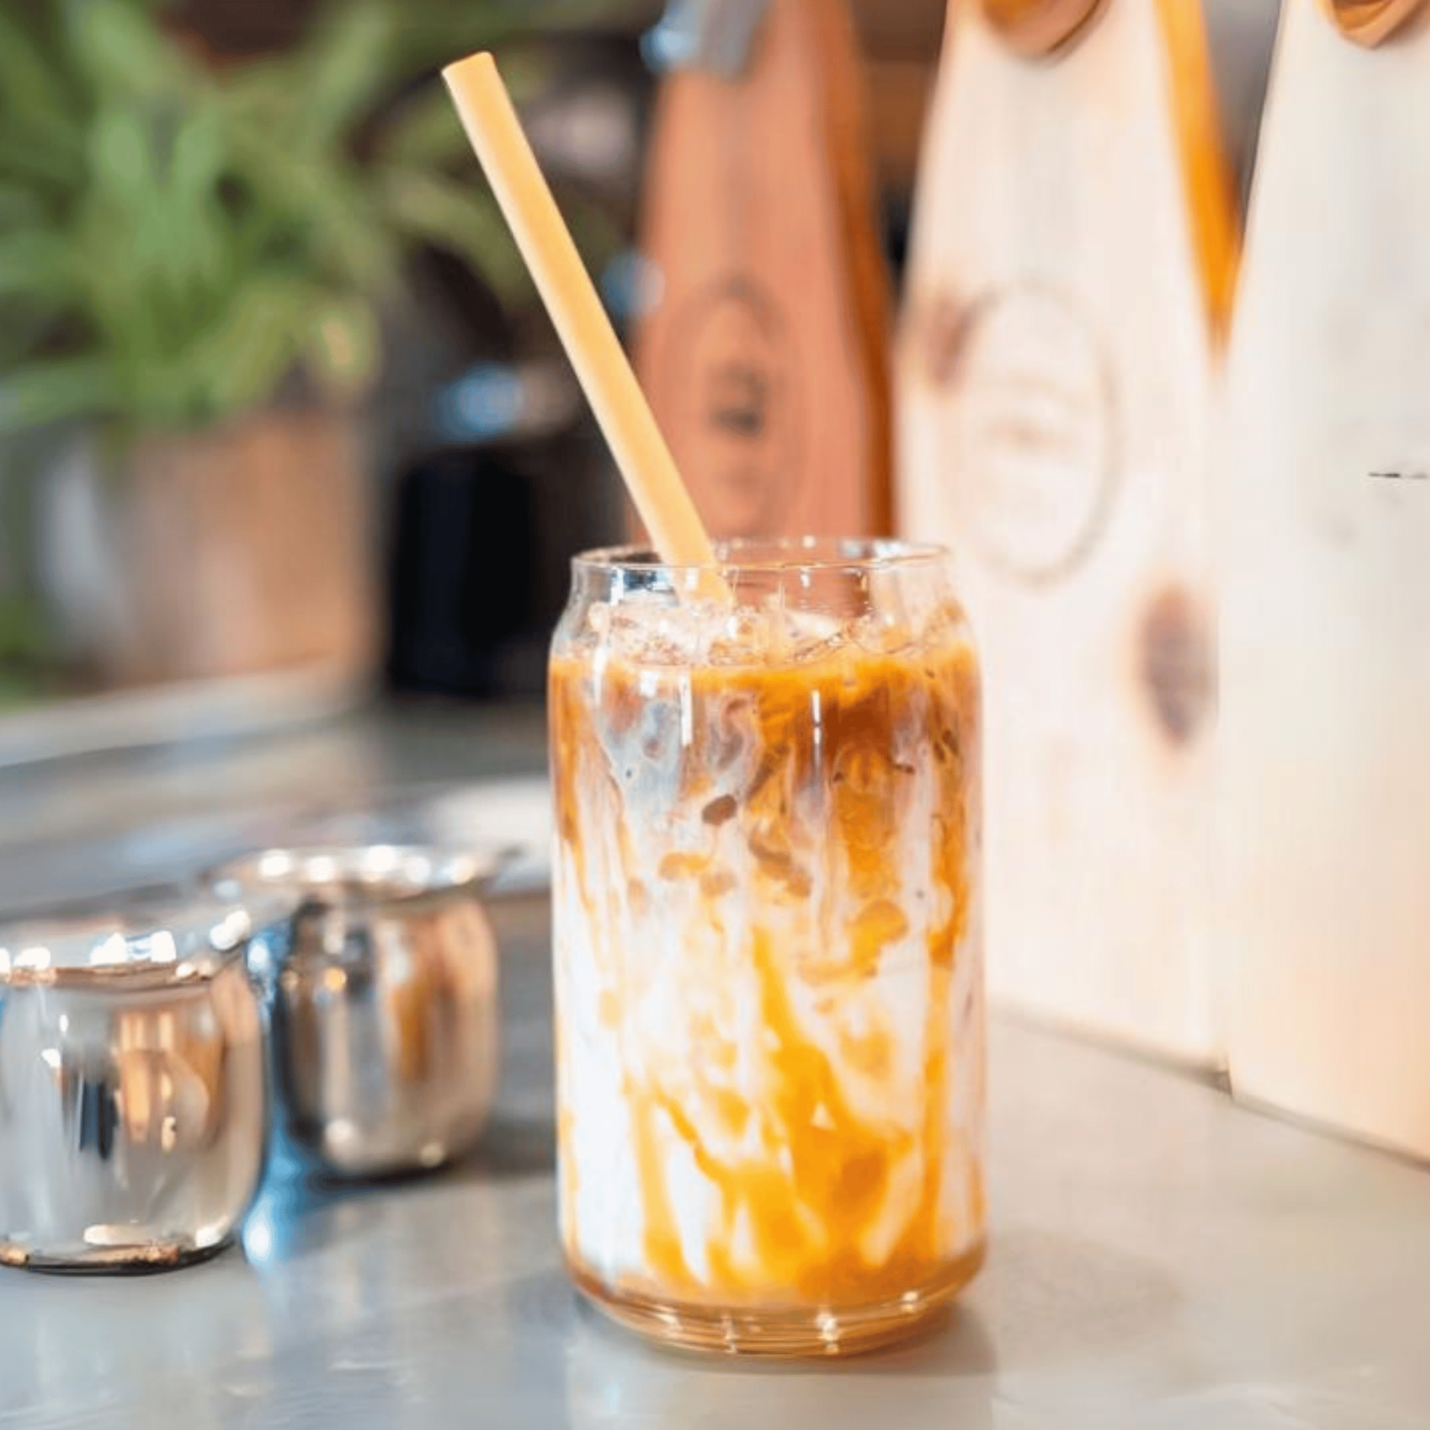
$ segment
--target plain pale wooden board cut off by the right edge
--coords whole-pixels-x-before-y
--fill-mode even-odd
[[[1430,1157],[1430,29],[1287,0],[1228,360],[1218,942],[1240,1095]]]

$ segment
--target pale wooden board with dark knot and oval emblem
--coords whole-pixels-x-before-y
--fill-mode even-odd
[[[1207,443],[1236,232],[1200,11],[1110,0],[1031,60],[954,11],[898,525],[954,548],[984,655],[990,990],[1216,1061]]]

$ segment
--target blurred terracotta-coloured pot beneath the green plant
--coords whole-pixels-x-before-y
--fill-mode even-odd
[[[143,438],[116,506],[129,611],[100,652],[116,684],[373,668],[372,493],[350,415]]]

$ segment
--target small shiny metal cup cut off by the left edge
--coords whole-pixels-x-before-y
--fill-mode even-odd
[[[233,1237],[269,1128],[250,931],[177,891],[0,928],[0,1263],[160,1270]]]

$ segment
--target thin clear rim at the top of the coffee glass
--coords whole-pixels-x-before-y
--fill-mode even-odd
[[[938,542],[895,536],[732,536],[711,543],[714,562],[671,562],[646,543],[592,546],[571,558],[576,572],[829,572],[904,571],[938,566],[950,552]]]

